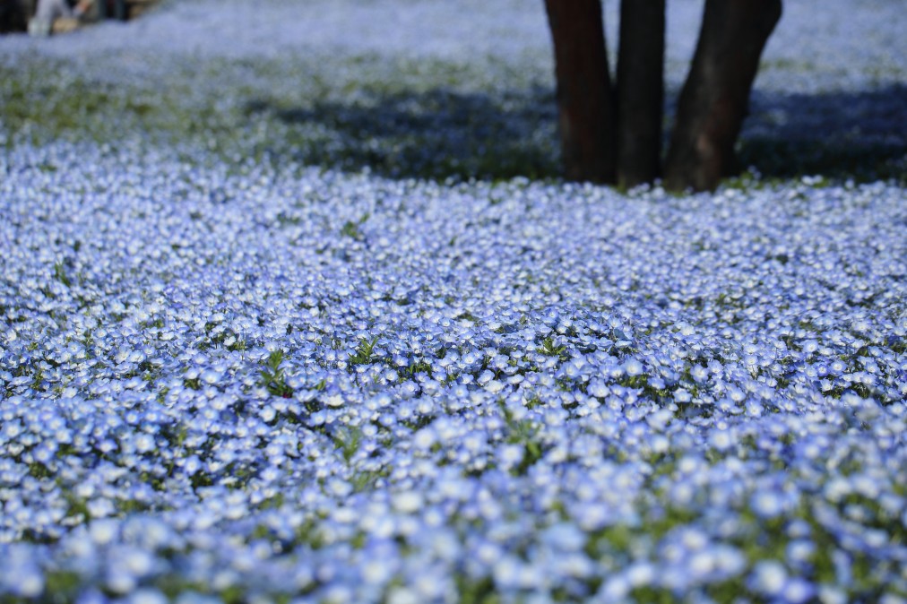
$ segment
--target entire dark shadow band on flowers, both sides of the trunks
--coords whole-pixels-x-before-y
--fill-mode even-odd
[[[674,102],[676,91],[668,96]],[[276,119],[287,129],[286,140],[269,152],[307,164],[434,180],[560,175],[553,93],[542,88],[497,96],[356,92],[308,108],[266,99],[245,107],[249,119]],[[740,165],[769,179],[907,181],[905,107],[903,85],[865,93],[756,92]]]

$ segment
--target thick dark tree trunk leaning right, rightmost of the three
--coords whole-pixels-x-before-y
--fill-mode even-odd
[[[706,0],[668,150],[668,189],[713,190],[736,168],[759,57],[780,17],[781,0]]]

